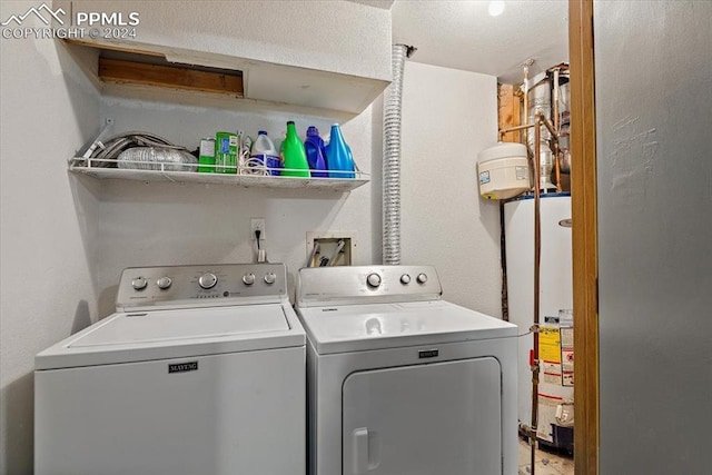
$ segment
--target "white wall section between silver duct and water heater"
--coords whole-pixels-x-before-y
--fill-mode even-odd
[[[416,53],[417,55],[417,53]],[[500,207],[477,192],[477,152],[496,142],[493,76],[406,62],[402,263],[432,264],[444,297],[500,317]]]

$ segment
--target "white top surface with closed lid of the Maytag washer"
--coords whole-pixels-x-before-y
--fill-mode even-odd
[[[37,355],[50,369],[303,346],[288,305],[113,314]]]

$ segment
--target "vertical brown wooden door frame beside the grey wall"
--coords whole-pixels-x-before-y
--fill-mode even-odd
[[[593,0],[568,0],[576,475],[599,473],[599,251]]]

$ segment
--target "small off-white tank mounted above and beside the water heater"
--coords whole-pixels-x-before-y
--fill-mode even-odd
[[[526,146],[500,142],[477,156],[479,195],[485,199],[507,199],[532,188]]]

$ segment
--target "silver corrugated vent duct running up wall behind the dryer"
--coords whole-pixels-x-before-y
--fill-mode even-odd
[[[406,44],[394,44],[393,81],[386,89],[383,123],[383,263],[400,264],[400,121],[403,108],[403,70],[415,52]]]

